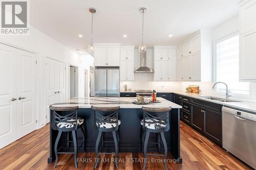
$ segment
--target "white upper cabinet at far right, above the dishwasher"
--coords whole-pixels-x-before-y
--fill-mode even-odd
[[[239,3],[240,81],[256,82],[256,0]]]

